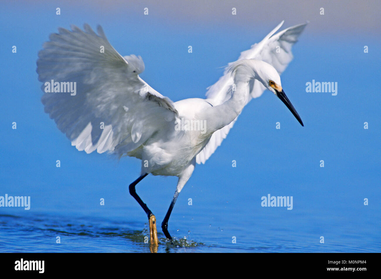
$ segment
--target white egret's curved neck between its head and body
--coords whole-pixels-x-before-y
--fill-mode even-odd
[[[235,80],[231,98],[207,110],[205,120],[209,133],[229,125],[241,113],[249,97],[249,81],[250,79]]]

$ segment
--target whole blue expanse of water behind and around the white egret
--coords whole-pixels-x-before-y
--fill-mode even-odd
[[[279,7],[280,16],[243,25],[228,11],[209,24],[181,21],[171,10],[156,14],[154,4],[149,16],[143,15],[144,5],[104,10],[70,2],[1,5],[0,196],[30,196],[31,208],[0,207],[0,252],[149,252],[143,242],[146,215],[128,193],[140,161],[79,152],[56,128],[43,111],[35,72],[43,42],[60,26],[101,24],[120,54],[142,56],[142,79],[178,101],[204,98],[205,88],[222,74],[219,67],[235,61],[287,15],[282,17]],[[306,20],[311,22],[293,47],[295,58],[281,76],[305,127],[269,91],[253,99],[179,195],[169,231],[185,248],[165,243],[159,229],[159,252],[381,251],[380,32],[341,32],[334,26],[319,31],[319,18],[305,15],[286,20],[281,29]],[[306,93],[312,79],[337,82],[337,96]],[[158,223],[176,183],[176,177],[149,175],[136,187]],[[261,207],[267,194],[293,196],[293,210]]]

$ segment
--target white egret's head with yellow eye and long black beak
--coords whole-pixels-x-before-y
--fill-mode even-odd
[[[261,82],[288,107],[299,123],[304,126],[298,112],[283,91],[280,76],[273,66],[261,60],[242,59],[229,65],[227,70],[231,71],[235,82],[249,82],[251,79]]]

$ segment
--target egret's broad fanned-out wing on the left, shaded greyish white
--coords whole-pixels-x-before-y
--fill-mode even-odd
[[[50,35],[38,53],[37,73],[45,112],[73,146],[123,155],[174,120],[173,102],[139,77],[140,56],[122,57],[100,26],[98,34],[87,24],[84,31],[71,28]]]

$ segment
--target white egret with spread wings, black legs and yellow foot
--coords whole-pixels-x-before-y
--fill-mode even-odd
[[[275,34],[282,24],[229,63],[224,75],[208,88],[207,99],[175,103],[139,77],[144,71],[141,57],[121,56],[100,26],[98,34],[88,24],[84,31],[76,26],[71,31],[59,28],[43,44],[37,60],[38,80],[45,92],[42,103],[72,146],[86,153],[107,151],[119,158],[141,159],[141,175],[129,189],[147,213],[151,244],[158,244],[156,219],[135,192],[135,185],[147,174],[179,178],[162,222],[165,236],[172,239],[168,219],[196,162],[205,163],[215,152],[252,98],[270,90],[303,126],[279,75],[292,60],[291,46],[306,24]]]

